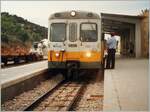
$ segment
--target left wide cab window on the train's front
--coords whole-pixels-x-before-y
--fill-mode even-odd
[[[66,24],[52,23],[50,28],[50,41],[63,42],[66,40]]]

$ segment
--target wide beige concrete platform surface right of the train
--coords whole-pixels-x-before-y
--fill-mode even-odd
[[[148,111],[148,59],[117,59],[105,70],[104,111]]]

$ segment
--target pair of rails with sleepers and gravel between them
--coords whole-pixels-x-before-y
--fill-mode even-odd
[[[24,111],[69,111],[84,85],[80,82],[63,82],[37,99]]]

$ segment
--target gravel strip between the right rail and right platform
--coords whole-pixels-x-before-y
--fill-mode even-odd
[[[93,74],[92,74],[93,75]],[[73,108],[74,111],[102,111],[103,110],[104,81],[97,73],[93,80],[90,80],[78,101]]]

